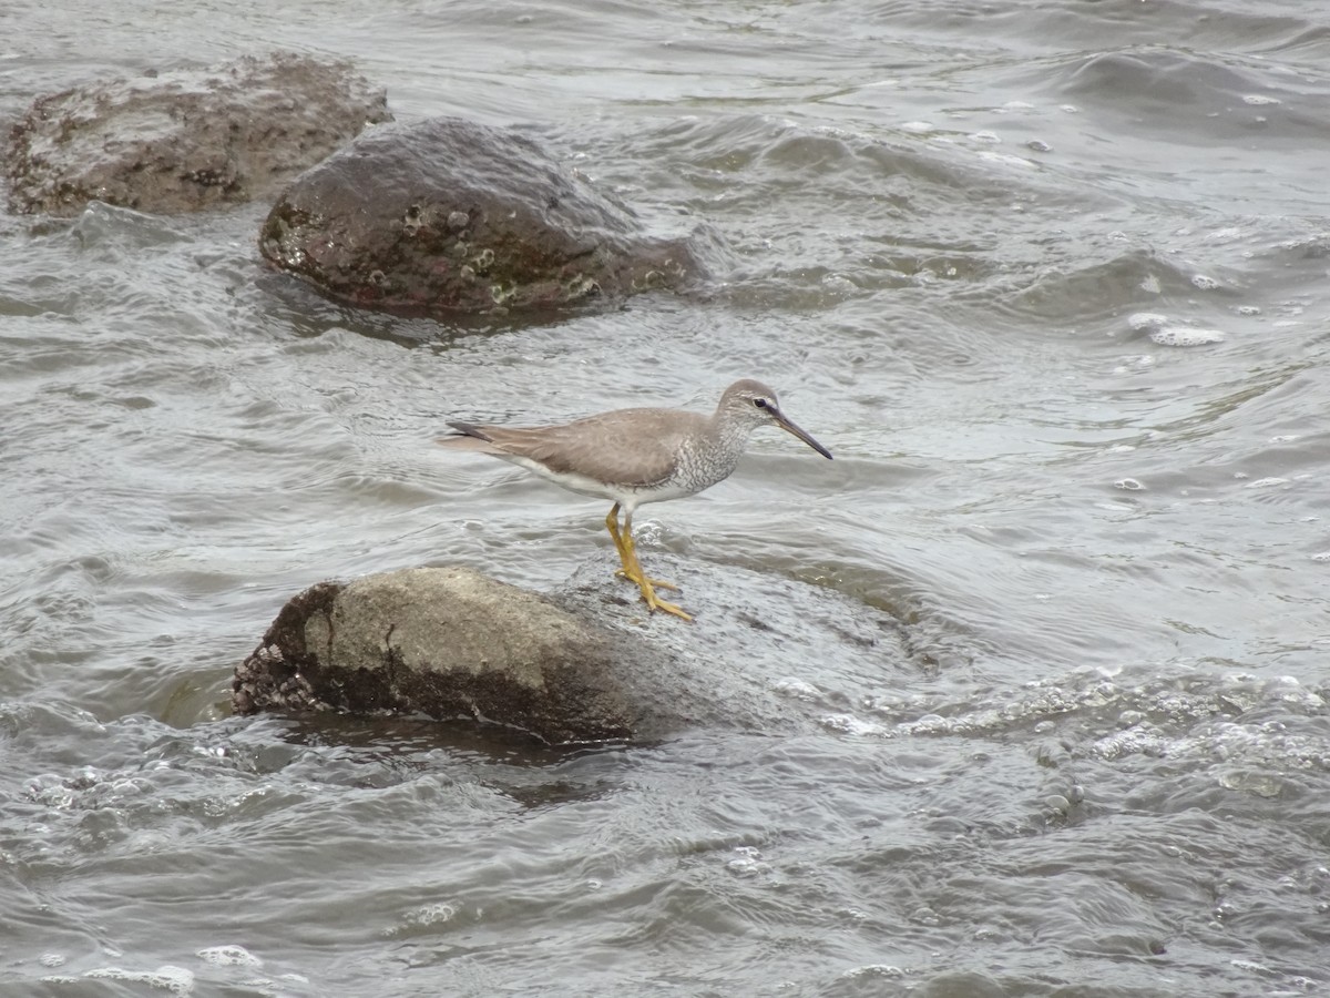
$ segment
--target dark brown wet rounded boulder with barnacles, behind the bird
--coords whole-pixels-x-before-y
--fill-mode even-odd
[[[287,189],[259,251],[331,298],[408,314],[573,305],[701,271],[532,138],[463,118],[362,136]]]

